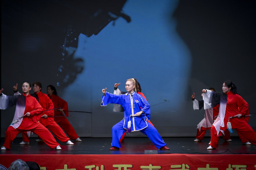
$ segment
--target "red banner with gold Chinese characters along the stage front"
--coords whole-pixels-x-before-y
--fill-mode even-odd
[[[256,155],[0,155],[9,167],[17,159],[40,170],[256,170]]]

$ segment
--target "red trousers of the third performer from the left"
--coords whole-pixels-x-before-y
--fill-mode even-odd
[[[67,118],[65,118],[64,116],[54,117],[54,121],[61,126],[61,128],[66,132],[70,139],[75,140],[79,138],[79,136],[76,134],[75,129],[69,123]]]

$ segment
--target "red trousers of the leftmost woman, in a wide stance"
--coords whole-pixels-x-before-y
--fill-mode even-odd
[[[11,149],[11,142],[14,140],[14,138],[22,132],[25,132],[27,134],[27,131],[31,131],[36,133],[37,135],[40,136],[40,138],[50,147],[50,148],[56,148],[58,145],[58,142],[54,139],[53,135],[49,132],[47,128],[45,128],[42,124],[38,122],[38,126],[33,129],[19,129],[19,128],[14,128],[12,126],[9,126],[7,128],[7,131],[5,132],[5,138],[4,138],[4,147],[6,149]],[[23,133],[22,133],[23,134]]]

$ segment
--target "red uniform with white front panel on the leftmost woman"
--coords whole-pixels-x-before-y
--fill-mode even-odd
[[[4,139],[3,146],[6,149],[11,149],[11,142],[18,135],[18,133],[21,133],[21,132],[26,133],[27,131],[32,131],[37,135],[39,135],[40,138],[50,148],[56,148],[59,145],[58,142],[56,142],[56,140],[54,139],[53,135],[49,132],[49,130],[38,122],[39,120],[38,115],[42,113],[43,108],[40,106],[38,101],[36,101],[35,97],[32,97],[30,94],[28,96],[26,96],[25,94],[21,94],[13,97],[14,98],[17,97],[17,102],[15,102],[16,110],[15,110],[14,119],[17,120],[16,114],[19,115],[20,114],[19,112],[23,111],[22,110],[23,108],[25,108],[25,110],[23,111],[22,115],[29,112],[30,116],[24,116],[22,119],[18,119],[16,123],[11,124],[7,128],[7,131],[5,132],[5,139]]]

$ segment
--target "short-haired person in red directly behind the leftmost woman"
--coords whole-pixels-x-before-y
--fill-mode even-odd
[[[33,83],[33,90],[35,93],[32,94],[32,96],[38,98],[39,103],[44,110],[48,110],[41,114],[41,118],[39,120],[40,123],[48,128],[61,142],[66,142],[67,145],[74,145],[74,143],[72,143],[65,135],[61,127],[54,121],[54,104],[47,94],[43,94],[41,92],[41,89],[42,84],[40,82]],[[22,138],[23,141],[20,144],[29,142],[29,136],[27,133],[22,133]]]

